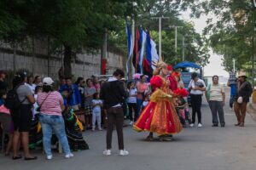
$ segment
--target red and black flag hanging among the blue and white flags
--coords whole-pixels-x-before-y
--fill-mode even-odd
[[[134,42],[134,48],[133,48],[133,58],[132,58],[132,64],[134,66],[135,69],[135,73],[140,73],[140,68],[138,65],[138,59],[139,59],[139,51],[142,48],[141,42],[140,40],[140,32],[138,30],[138,28],[136,29],[136,35],[135,35],[135,42]]]

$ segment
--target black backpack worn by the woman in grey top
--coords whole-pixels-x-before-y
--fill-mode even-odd
[[[20,86],[18,86],[17,88],[19,88]],[[9,90],[9,92],[7,93],[6,99],[4,100],[4,106],[6,108],[8,108],[10,111],[15,111],[20,109],[20,105],[25,101],[25,99],[23,99],[22,101],[20,101],[19,96],[17,94],[17,88],[13,88],[11,90]]]

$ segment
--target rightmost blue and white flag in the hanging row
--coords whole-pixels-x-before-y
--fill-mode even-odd
[[[151,65],[151,68],[154,70],[156,64],[159,62],[159,55],[156,50],[156,43],[152,40],[149,33],[147,34],[147,60]]]

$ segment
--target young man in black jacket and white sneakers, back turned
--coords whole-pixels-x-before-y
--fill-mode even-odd
[[[128,97],[124,84],[120,81],[123,77],[125,77],[124,71],[117,69],[113,72],[113,77],[110,77],[108,82],[105,82],[101,88],[101,99],[103,100],[103,106],[104,109],[107,110],[108,115],[107,150],[103,151],[103,155],[105,156],[111,155],[114,124],[118,133],[119,155],[129,155],[129,152],[125,150],[123,136],[124,112],[122,103]]]

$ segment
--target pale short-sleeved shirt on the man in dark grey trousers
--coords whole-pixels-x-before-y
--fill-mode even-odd
[[[210,85],[209,85],[210,86]],[[223,101],[222,94],[224,93],[224,86],[221,84],[211,84],[210,101]]]

